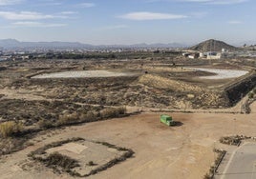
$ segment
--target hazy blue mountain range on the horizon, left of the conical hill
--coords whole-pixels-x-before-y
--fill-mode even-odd
[[[117,48],[185,48],[179,43],[170,44],[134,44],[134,45],[91,45],[79,42],[20,42],[15,39],[0,40],[0,48],[11,49],[117,49]]]

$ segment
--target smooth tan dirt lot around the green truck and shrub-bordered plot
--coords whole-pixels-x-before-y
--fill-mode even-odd
[[[214,144],[234,133],[255,136],[255,103],[251,114],[169,113],[182,126],[169,128],[160,113],[142,113],[121,119],[56,129],[36,136],[27,149],[1,159],[1,178],[72,178],[53,173],[27,157],[53,141],[83,137],[133,149],[135,156],[89,178],[203,178],[214,159]],[[234,122],[234,118],[237,120]]]

